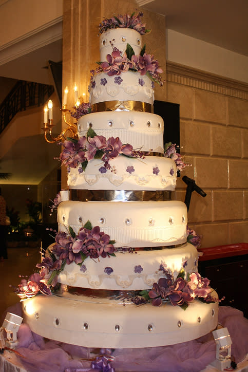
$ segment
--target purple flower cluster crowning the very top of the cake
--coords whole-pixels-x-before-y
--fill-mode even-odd
[[[141,35],[149,32],[146,30],[145,24],[141,22],[141,17],[143,13],[138,12],[137,14],[117,14],[115,17],[104,18],[104,20],[99,25],[99,34],[111,28],[132,28],[133,30],[138,31]]]

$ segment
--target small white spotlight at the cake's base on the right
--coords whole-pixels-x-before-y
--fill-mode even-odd
[[[220,328],[212,332],[216,343],[216,360],[211,363],[219,370],[231,367],[232,340],[227,328]]]

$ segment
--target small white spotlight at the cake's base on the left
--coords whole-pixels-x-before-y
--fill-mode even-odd
[[[23,318],[19,315],[7,312],[4,323],[0,328],[0,346],[6,344],[7,347],[14,349],[18,345],[17,332],[22,324]],[[3,340],[3,329],[7,333],[7,341]],[[4,348],[4,347],[2,347]]]

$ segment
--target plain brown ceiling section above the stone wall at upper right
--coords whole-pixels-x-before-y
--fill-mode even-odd
[[[248,55],[247,0],[137,0],[166,16],[166,27]]]

